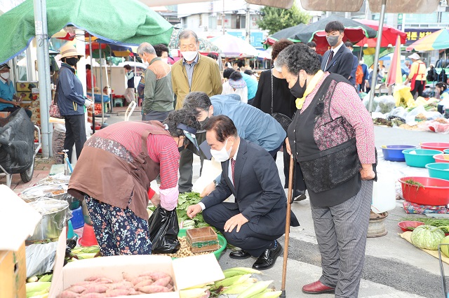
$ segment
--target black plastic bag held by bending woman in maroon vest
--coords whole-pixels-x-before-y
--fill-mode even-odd
[[[177,234],[180,227],[177,223],[176,208],[168,211],[157,206],[148,220],[149,239],[152,241],[152,253],[176,253],[180,249]]]

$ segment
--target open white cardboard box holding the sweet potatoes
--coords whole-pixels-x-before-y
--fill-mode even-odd
[[[64,289],[69,288],[70,285],[84,281],[85,278],[91,276],[104,276],[114,281],[122,281],[122,272],[138,275],[145,271],[162,271],[170,274],[175,283],[175,292],[137,295],[133,297],[179,298],[179,290],[204,283],[213,283],[214,281],[225,278],[215,255],[212,253],[208,255],[196,255],[194,257],[182,257],[176,260],[171,260],[171,257],[162,255],[97,257],[71,262],[62,268],[61,274],[56,273],[56,276],[53,274],[50,295],[48,297],[54,298]]]

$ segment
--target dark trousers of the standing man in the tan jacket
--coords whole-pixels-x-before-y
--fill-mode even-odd
[[[206,132],[198,132],[196,133],[196,142],[198,145],[206,141]],[[194,154],[192,152],[194,150],[194,146],[190,144],[187,146],[185,150],[182,150],[180,153],[180,179],[178,181],[178,189],[180,192],[191,192],[192,191],[192,178],[194,176],[193,162],[194,162]],[[194,150],[196,151],[196,150]],[[199,154],[199,158],[201,160],[201,170],[203,169],[203,161],[204,155],[202,152]]]

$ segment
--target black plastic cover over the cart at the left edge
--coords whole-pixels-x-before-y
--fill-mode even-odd
[[[0,118],[0,164],[8,173],[26,171],[34,158],[34,125],[23,108]]]

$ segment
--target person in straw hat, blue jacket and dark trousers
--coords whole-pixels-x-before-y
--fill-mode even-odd
[[[73,146],[76,149],[76,159],[81,155],[86,142],[85,107],[89,108],[92,101],[83,95],[83,85],[76,76],[76,63],[83,54],[77,52],[73,45],[61,49],[61,68],[58,78],[58,107],[65,120],[64,149],[68,150],[69,162],[72,162]]]

